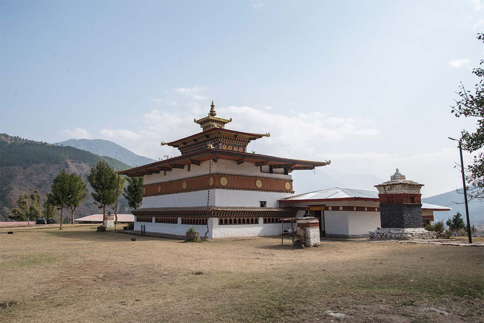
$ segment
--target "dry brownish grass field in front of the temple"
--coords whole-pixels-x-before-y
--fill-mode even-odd
[[[95,225],[9,230],[2,322],[484,321],[483,247],[355,239],[296,250],[277,238],[132,242]]]

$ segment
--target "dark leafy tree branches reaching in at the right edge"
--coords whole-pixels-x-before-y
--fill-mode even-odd
[[[484,33],[477,34],[477,39],[484,42]],[[481,60],[479,65],[484,65]],[[484,153],[477,152],[484,147],[484,69],[475,68],[472,74],[477,76],[478,81],[474,85],[473,91],[464,87],[460,83],[460,91],[457,93],[459,99],[455,100],[452,113],[457,117],[476,118],[477,128],[474,132],[462,130],[461,146],[463,150],[475,153],[473,163],[467,167],[466,181],[470,184],[467,192],[470,199],[484,199]]]

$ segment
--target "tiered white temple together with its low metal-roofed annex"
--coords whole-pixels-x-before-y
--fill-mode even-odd
[[[161,143],[178,148],[180,156],[120,172],[143,176],[142,207],[132,211],[135,230],[144,226],[146,232],[184,236],[194,226],[207,238],[273,236],[291,227],[280,219],[302,217],[307,209],[319,220],[322,237],[368,237],[382,227],[381,204],[387,207],[387,195],[382,200],[377,191],[341,187],[294,195],[292,171],[313,170],[331,161],[248,153],[251,141],[270,134],[225,129],[232,120],[216,115],[212,101],[208,116],[194,120],[201,132]],[[398,170],[395,176],[404,178]],[[400,208],[421,207],[414,227],[434,221],[434,211],[450,210],[421,203],[420,195],[413,197],[416,200],[403,201]]]

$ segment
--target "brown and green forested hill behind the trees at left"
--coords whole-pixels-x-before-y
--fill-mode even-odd
[[[128,169],[129,165],[112,157],[99,156],[86,150],[69,146],[56,146],[45,142],[27,140],[0,134],[0,221],[8,221],[9,208],[14,206],[19,194],[40,191],[44,196],[50,191],[53,178],[62,170],[80,174],[87,182],[90,167],[104,159],[114,169]],[[88,185],[91,192],[91,187]],[[91,194],[78,208],[75,218],[98,213]],[[119,213],[129,212],[124,198]]]

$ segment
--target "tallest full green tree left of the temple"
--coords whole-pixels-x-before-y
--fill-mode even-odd
[[[102,221],[104,223],[106,220],[106,205],[109,206],[116,202],[117,174],[104,160],[98,160],[91,167],[87,180],[94,189],[94,192],[91,193],[94,204],[102,208]]]

